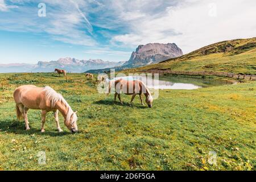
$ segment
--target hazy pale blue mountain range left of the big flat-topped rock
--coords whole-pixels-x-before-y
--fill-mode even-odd
[[[101,59],[77,60],[71,57],[60,58],[57,61],[39,61],[38,64],[0,64],[0,73],[10,72],[53,72],[55,68],[67,72],[82,73],[89,69],[104,69],[118,67],[124,62],[103,61]]]

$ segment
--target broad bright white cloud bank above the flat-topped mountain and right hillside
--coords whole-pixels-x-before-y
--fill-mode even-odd
[[[213,7],[210,4],[216,5],[216,16],[210,16],[212,14],[209,11]],[[162,9],[160,16],[153,13],[127,21],[130,32],[116,35],[112,41],[133,46],[150,42],[175,42],[187,53],[221,40],[256,36],[255,7],[254,0],[183,1]],[[135,14],[138,12],[136,7],[130,9],[127,5],[121,9],[124,12],[129,9],[127,16],[132,14],[131,11]],[[121,17],[126,15],[122,14]]]

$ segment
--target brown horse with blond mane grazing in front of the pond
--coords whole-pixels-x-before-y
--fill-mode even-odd
[[[146,103],[148,107],[150,108],[152,107],[153,97],[151,96],[150,90],[148,90],[147,86],[142,81],[139,81],[139,80],[127,81],[123,79],[110,81],[109,93],[110,93],[113,82],[115,85],[115,101],[117,100],[117,96],[118,96],[119,101],[121,102],[121,104],[123,104],[120,97],[120,93],[123,92],[126,95],[133,95],[131,97],[131,102],[130,102],[130,105],[131,105],[134,100],[134,97],[137,96],[137,94],[139,94],[139,98],[141,99],[141,104],[144,105],[142,101],[142,94],[144,94],[144,96],[146,97]]]

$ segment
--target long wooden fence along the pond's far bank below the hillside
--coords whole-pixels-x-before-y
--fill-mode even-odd
[[[256,75],[240,75],[236,73],[228,72],[212,72],[212,71],[201,71],[201,72],[189,72],[189,71],[171,71],[170,69],[148,69],[148,73],[159,73],[163,74],[172,74],[172,75],[200,75],[200,76],[223,76],[230,77],[237,80],[256,80]]]

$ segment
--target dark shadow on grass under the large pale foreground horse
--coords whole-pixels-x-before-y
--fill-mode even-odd
[[[14,134],[22,134],[22,135],[32,135],[32,134],[39,134],[39,135],[49,135],[51,137],[60,137],[63,135],[71,134],[67,131],[63,131],[59,133],[57,130],[46,130],[44,133],[40,131],[40,129],[31,128],[30,130],[25,130],[25,123],[23,121],[3,121],[0,120],[0,133],[7,132],[7,133],[14,133]]]

